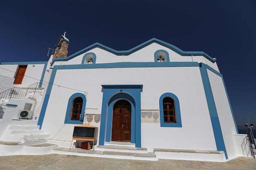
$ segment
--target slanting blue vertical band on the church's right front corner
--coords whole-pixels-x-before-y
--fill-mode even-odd
[[[222,135],[222,130],[220,127],[220,121],[218,118],[218,113],[216,109],[216,105],[214,102],[213,93],[211,90],[211,84],[209,80],[209,76],[207,73],[207,67],[206,64],[202,63],[202,67],[200,67],[200,73],[202,76],[202,82],[204,86],[204,92],[207,99],[207,105],[209,108],[210,118],[211,118],[211,124],[213,127],[213,134],[215,137],[215,142],[217,146],[217,150],[223,150],[225,152],[226,159],[228,159],[227,150],[225,147],[225,142]]]

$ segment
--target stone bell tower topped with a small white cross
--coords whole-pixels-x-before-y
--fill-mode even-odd
[[[67,47],[68,44],[70,43],[70,40],[68,40],[65,37],[66,32],[64,33],[64,35],[61,35],[61,37],[58,39],[58,42],[56,43],[55,47],[55,52],[54,55],[52,57],[52,61],[55,58],[64,58],[67,57]]]

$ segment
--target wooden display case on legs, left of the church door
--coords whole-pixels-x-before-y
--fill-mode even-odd
[[[70,148],[72,146],[73,140],[80,141],[93,141],[93,150],[94,150],[94,141],[97,141],[98,137],[98,128],[92,125],[79,125],[74,126],[73,138],[71,141]]]

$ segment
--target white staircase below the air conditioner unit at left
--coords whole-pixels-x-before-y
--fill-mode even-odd
[[[49,134],[39,130],[37,121],[13,120],[0,140],[0,155],[42,155],[58,144],[48,143]]]

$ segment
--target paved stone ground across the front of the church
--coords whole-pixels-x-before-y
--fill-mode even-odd
[[[228,162],[159,159],[139,161],[74,155],[15,155],[0,157],[0,170],[256,170],[256,159]]]

